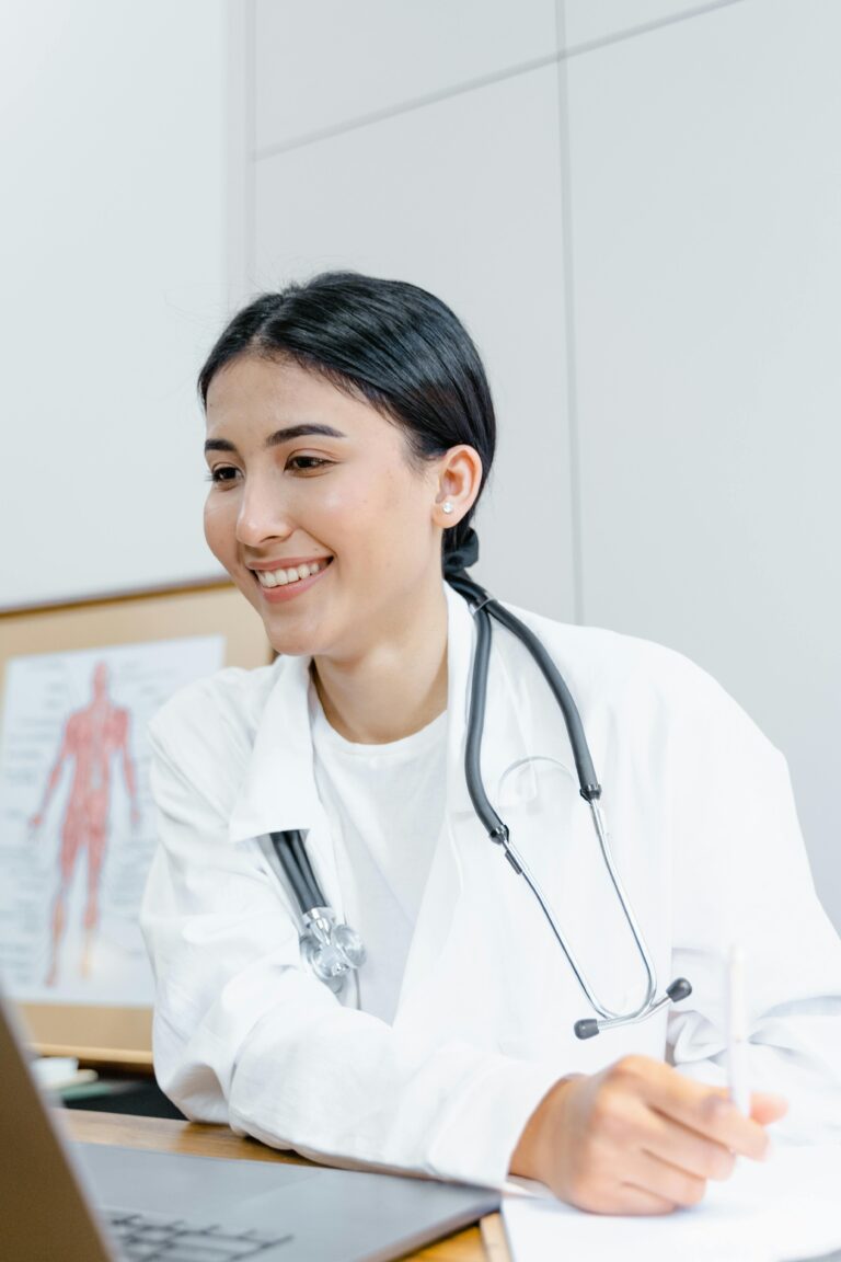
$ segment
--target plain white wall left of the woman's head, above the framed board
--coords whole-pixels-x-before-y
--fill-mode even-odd
[[[223,0],[0,5],[0,606],[211,574]]]

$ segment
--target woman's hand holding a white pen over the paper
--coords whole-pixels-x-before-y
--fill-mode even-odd
[[[528,1119],[511,1174],[598,1214],[668,1214],[697,1204],[709,1179],[736,1156],[762,1161],[765,1127],[788,1106],[751,1097],[750,1117],[726,1092],[648,1056],[623,1056],[600,1074],[556,1083]]]

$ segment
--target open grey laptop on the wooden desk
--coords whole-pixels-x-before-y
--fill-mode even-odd
[[[9,1262],[386,1262],[499,1208],[482,1188],[66,1140],[0,996]]]

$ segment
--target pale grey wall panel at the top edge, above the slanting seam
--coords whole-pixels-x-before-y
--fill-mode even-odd
[[[257,151],[556,48],[555,0],[256,0]]]

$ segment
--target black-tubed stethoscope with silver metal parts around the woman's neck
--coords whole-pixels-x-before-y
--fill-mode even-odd
[[[504,857],[517,873],[522,876],[530,890],[537,899],[543,915],[546,916],[561,950],[566,955],[570,968],[575,973],[581,991],[588,1002],[598,1013],[596,1017],[585,1017],[575,1022],[575,1034],[579,1039],[591,1039],[600,1030],[612,1030],[615,1026],[633,1025],[644,1021],[647,1017],[659,1012],[664,1005],[678,1003],[692,993],[692,987],[685,977],[676,978],[664,993],[657,994],[657,973],[654,964],[646,946],[646,941],[637,924],[637,919],[630,909],[628,897],[622,887],[619,875],[613,862],[608,830],[604,815],[599,806],[601,786],[599,784],[593,758],[588,747],[581,716],[572,700],[569,688],[564,683],[561,674],[550,658],[548,652],[530,627],[521,622],[518,617],[503,608],[483,587],[474,583],[468,577],[465,567],[472,565],[479,554],[478,539],[474,531],[468,533],[467,543],[458,551],[446,554],[444,564],[444,577],[456,592],[465,597],[477,627],[477,645],[473,659],[473,676],[470,681],[470,703],[468,708],[468,731],[464,756],[464,771],[467,776],[468,791],[473,801],[474,810],[482,820],[488,837],[494,844],[501,846]],[[646,996],[638,1007],[629,1012],[615,1012],[605,1003],[601,1003],[593,987],[588,982],[581,967],[566,940],[564,931],[555,920],[552,910],[543,897],[541,888],[528,871],[528,867],[513,846],[508,827],[499,818],[490,805],[484,790],[480,770],[482,733],[484,727],[485,699],[488,692],[488,664],[490,660],[490,616],[497,622],[507,627],[518,640],[522,641],[536,664],[540,666],[546,683],[548,684],[557,704],[561,708],[567,736],[572,747],[572,757],[579,779],[579,793],[590,808],[593,825],[599,840],[601,858],[610,876],[610,881],[619,900],[622,912],[633,935],[639,958],[646,973]],[[300,832],[271,833],[272,846],[277,859],[293,888],[295,899],[304,920],[304,930],[300,935],[301,954],[308,960],[315,976],[325,982],[334,992],[339,992],[347,976],[353,969],[364,963],[366,952],[359,935],[345,924],[337,920],[337,915],[327,905],[319,888],[318,881],[309,862],[304,837]]]

